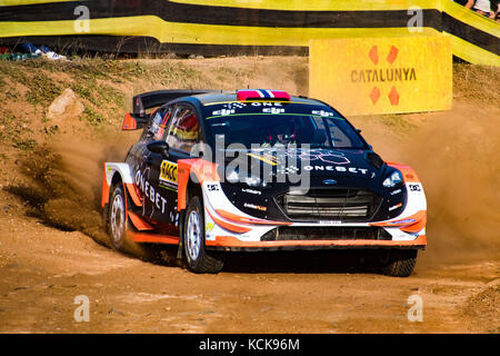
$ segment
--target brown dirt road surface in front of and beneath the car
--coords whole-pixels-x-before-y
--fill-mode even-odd
[[[0,333],[500,333],[498,260],[428,266],[422,253],[413,276],[391,278],[271,255],[194,275],[9,211],[0,240]],[[73,318],[79,295],[89,322]],[[412,295],[421,323],[407,318]]]

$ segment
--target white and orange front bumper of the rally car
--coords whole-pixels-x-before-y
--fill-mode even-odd
[[[423,188],[417,181],[407,182],[408,201],[399,216],[384,221],[370,222],[292,222],[261,219],[234,207],[222,189],[214,188],[217,185],[217,181],[202,185],[207,249],[229,251],[424,249],[427,245],[427,202]],[[210,186],[210,189],[207,189],[207,186]],[[280,235],[279,231],[287,231],[287,234]]]

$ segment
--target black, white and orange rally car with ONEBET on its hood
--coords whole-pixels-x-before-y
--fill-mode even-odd
[[[142,129],[106,162],[110,241],[178,246],[194,273],[231,251],[376,249],[409,276],[427,245],[427,202],[409,166],[387,162],[339,111],[282,90],[160,90],[133,98]]]

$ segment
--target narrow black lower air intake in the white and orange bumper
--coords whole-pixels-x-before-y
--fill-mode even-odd
[[[263,241],[281,240],[390,240],[391,236],[380,227],[311,227],[283,226],[262,236]]]

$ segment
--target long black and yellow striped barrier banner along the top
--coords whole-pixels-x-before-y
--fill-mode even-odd
[[[33,42],[44,37],[42,41],[50,47],[81,46],[110,52],[121,51],[123,46],[128,47],[123,51],[141,51],[141,47],[146,51],[199,51],[209,56],[250,52],[251,47],[258,47],[256,52],[280,53],[283,48],[303,53],[314,39],[409,36],[410,19],[421,18],[412,22],[418,32],[411,36],[448,34],[454,56],[500,67],[500,24],[452,0],[98,2],[0,0],[0,41],[13,44],[26,37],[33,37]],[[141,3],[148,8],[146,13],[140,11]],[[17,10],[16,6],[22,7]],[[79,6],[88,7],[88,32],[77,26],[81,19],[73,10]],[[417,9],[422,10],[419,17]],[[96,41],[90,34],[104,37]],[[192,44],[200,47],[197,50]]]

